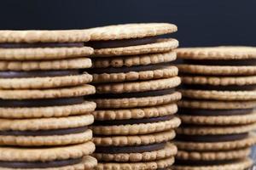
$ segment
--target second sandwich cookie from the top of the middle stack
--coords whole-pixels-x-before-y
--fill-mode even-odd
[[[160,59],[158,59],[158,57]],[[95,58],[93,59],[93,62],[96,62],[95,65],[102,65],[102,67],[95,66],[89,70],[89,73],[93,75],[93,82],[95,83],[127,82],[175,77],[177,76],[177,67],[173,66],[171,63],[172,60],[175,59],[176,54],[174,52],[165,54],[144,54],[142,56],[134,56],[134,59],[132,56],[129,59]]]

